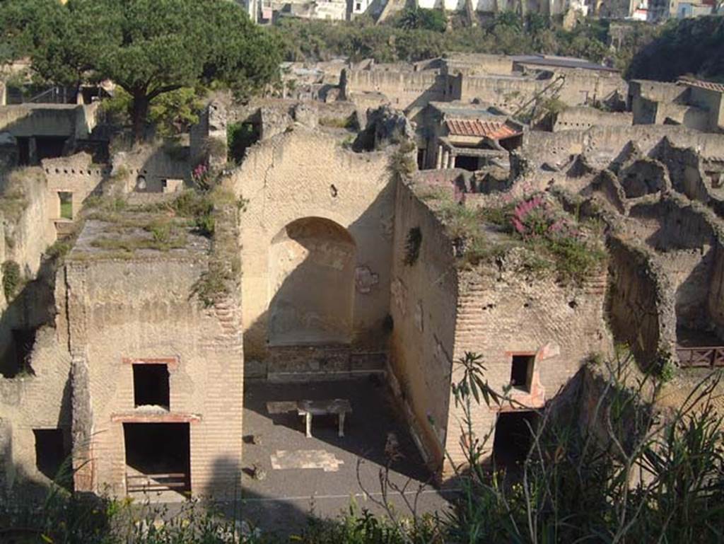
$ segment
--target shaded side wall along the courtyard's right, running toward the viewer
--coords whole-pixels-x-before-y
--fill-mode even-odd
[[[418,254],[413,262],[406,262],[416,232],[420,235]],[[403,183],[397,185],[392,247],[391,382],[421,449],[439,469],[450,408],[458,277],[444,227]]]

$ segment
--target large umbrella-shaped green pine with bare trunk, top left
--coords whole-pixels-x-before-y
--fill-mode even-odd
[[[109,79],[129,93],[136,139],[157,96],[198,83],[248,95],[281,60],[273,36],[227,0],[8,0],[0,24],[43,80]]]

